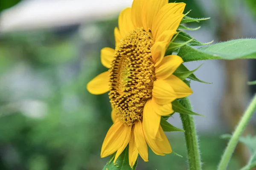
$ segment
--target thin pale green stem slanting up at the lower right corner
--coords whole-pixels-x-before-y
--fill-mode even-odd
[[[226,150],[221,158],[221,161],[218,165],[218,170],[226,170],[227,164],[230,161],[230,158],[236,148],[236,145],[239,141],[241,134],[244,132],[244,129],[247,123],[250,121],[251,116],[253,116],[253,112],[256,109],[256,95],[254,96],[252,102],[250,103],[249,107],[245,111],[244,115],[242,116],[238,126],[236,127],[233,136],[231,137]]]

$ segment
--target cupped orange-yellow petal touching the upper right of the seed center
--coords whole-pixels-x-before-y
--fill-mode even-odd
[[[156,42],[151,47],[151,56],[155,63],[154,65],[155,67],[157,67],[157,65],[159,65],[159,63],[164,58],[167,45],[168,45],[168,42]]]

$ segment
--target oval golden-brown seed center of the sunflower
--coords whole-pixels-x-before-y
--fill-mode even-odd
[[[116,116],[125,125],[141,121],[143,108],[152,97],[155,81],[151,31],[137,28],[116,47],[110,68],[109,98]]]

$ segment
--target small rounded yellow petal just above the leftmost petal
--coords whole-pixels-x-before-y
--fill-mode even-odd
[[[106,68],[111,68],[112,61],[114,60],[115,50],[113,48],[105,47],[102,48],[101,52],[101,62]]]

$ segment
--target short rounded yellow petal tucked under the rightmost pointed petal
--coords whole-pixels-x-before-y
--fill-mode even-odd
[[[152,95],[159,105],[166,105],[177,99],[175,91],[166,81],[157,79],[154,82]],[[144,119],[144,112],[143,112]]]

